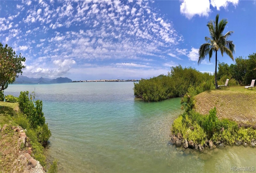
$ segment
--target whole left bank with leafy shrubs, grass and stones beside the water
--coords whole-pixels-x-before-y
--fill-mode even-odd
[[[1,171],[57,172],[57,161],[54,160],[49,165],[43,154],[51,137],[42,112],[43,102],[34,101],[35,92],[29,97],[28,91],[20,92],[18,98],[12,95],[6,95],[4,98],[1,95]]]

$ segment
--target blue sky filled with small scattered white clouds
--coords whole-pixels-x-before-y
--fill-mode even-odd
[[[26,57],[23,75],[140,79],[197,65],[206,24],[226,18],[234,57],[256,52],[256,1],[0,1],[0,40]],[[233,61],[218,53],[218,60]]]

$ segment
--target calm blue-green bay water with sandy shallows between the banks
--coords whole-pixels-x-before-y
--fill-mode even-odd
[[[9,85],[4,94],[36,91],[52,132],[46,155],[59,172],[256,171],[256,149],[227,146],[184,155],[169,146],[180,98],[147,103],[133,95],[133,82]]]

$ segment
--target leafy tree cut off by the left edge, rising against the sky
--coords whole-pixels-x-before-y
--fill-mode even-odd
[[[5,90],[10,83],[13,83],[19,74],[22,75],[22,69],[25,68],[22,62],[25,57],[16,55],[15,51],[6,44],[3,47],[0,42],[0,91]]]

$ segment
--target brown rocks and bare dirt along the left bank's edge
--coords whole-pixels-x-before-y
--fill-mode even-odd
[[[30,140],[26,136],[26,129],[22,129],[20,126],[10,126],[4,124],[0,127],[1,141],[5,142],[5,137],[7,138],[8,131],[13,130],[15,133],[11,137],[12,143],[15,145],[10,147],[2,147],[1,158],[4,160],[9,159],[9,155],[15,158],[12,160],[11,172],[29,172],[29,173],[45,173],[45,169],[35,160],[32,156],[32,148],[30,145]],[[10,139],[8,139],[10,140]],[[7,140],[7,141],[8,141]],[[31,156],[32,155],[32,156]],[[17,171],[19,170],[19,171]]]

